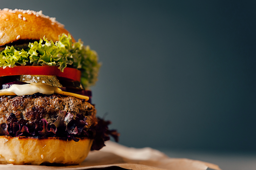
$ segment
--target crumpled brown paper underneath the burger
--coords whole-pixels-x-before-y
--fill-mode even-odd
[[[92,151],[88,157],[76,166],[35,166],[35,165],[0,165],[0,169],[21,170],[81,170],[118,166],[133,170],[206,170],[208,167],[221,170],[218,165],[190,160],[169,158],[164,153],[152,148],[128,148],[108,141],[100,151]]]

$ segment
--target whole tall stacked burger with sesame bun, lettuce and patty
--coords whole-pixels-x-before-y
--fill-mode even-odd
[[[0,10],[0,163],[76,165],[110,136],[96,117],[97,53],[42,11]]]

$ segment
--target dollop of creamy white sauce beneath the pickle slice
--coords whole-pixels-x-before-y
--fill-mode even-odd
[[[33,95],[35,93],[50,95],[61,91],[58,87],[48,86],[43,83],[13,84],[10,88],[0,90],[0,92],[13,92],[18,96]]]

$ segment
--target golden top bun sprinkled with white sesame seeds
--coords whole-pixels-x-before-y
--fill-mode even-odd
[[[63,24],[43,15],[42,11],[0,9],[0,23],[0,47],[19,41],[40,40],[44,36],[55,42],[60,34],[69,33]]]

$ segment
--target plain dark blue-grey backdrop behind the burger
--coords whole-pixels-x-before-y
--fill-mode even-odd
[[[10,1],[99,54],[92,87],[120,143],[256,151],[255,1]]]

